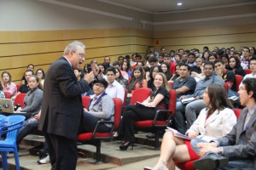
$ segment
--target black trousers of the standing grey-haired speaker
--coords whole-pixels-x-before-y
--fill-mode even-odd
[[[49,146],[51,170],[75,170],[77,166],[77,141],[66,137],[44,133]]]

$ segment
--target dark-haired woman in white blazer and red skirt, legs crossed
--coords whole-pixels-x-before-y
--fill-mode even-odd
[[[204,139],[209,142],[230,133],[236,124],[236,115],[231,110],[232,105],[224,88],[217,84],[209,85],[203,94],[203,101],[207,108],[201,111],[186,135],[190,139]],[[153,169],[174,170],[174,161],[185,162],[196,159],[199,159],[199,156],[191,149],[189,140],[175,137],[171,131],[166,131],[161,144],[160,159]]]

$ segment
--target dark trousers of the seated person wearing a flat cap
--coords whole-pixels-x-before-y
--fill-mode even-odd
[[[98,121],[99,119],[96,116],[84,112],[83,121],[79,127],[79,133],[92,133]],[[100,124],[100,126],[97,128],[98,133],[108,133],[110,130],[111,128],[105,124]]]

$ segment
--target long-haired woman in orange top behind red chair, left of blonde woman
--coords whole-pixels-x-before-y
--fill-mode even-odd
[[[132,97],[132,91],[136,90],[137,88],[147,88],[148,82],[143,79],[143,67],[136,66],[135,69],[132,71],[131,80],[127,85],[127,98]],[[130,102],[129,102],[130,103]]]

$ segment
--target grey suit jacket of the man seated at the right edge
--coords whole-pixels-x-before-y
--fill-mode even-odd
[[[219,146],[224,148],[224,156],[231,159],[256,160],[256,111],[247,123],[247,130],[244,130],[244,122],[248,109],[241,111],[241,115],[230,133],[222,139],[218,139]]]

